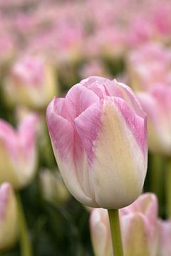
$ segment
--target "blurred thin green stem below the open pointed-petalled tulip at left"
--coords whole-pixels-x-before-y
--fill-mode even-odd
[[[24,217],[24,210],[21,203],[19,193],[16,193],[16,200],[18,206],[18,223],[19,223],[19,238],[21,245],[21,255],[32,256],[31,241],[28,236],[26,219]]]

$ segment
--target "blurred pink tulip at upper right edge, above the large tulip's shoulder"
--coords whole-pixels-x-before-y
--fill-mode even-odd
[[[133,50],[128,57],[128,78],[133,90],[150,90],[160,83],[171,82],[171,51],[156,43]]]

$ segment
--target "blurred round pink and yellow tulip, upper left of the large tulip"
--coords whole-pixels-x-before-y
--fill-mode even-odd
[[[44,108],[58,94],[54,70],[43,58],[27,56],[11,68],[4,92],[9,103]]]

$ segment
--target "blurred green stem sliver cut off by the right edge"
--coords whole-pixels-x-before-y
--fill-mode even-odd
[[[171,217],[171,158],[167,159],[165,188],[166,188],[167,218],[170,218]]]

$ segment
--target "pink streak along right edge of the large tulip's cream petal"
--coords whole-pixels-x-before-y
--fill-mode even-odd
[[[145,156],[147,151],[147,118],[135,114],[123,99],[113,97],[113,100]]]

